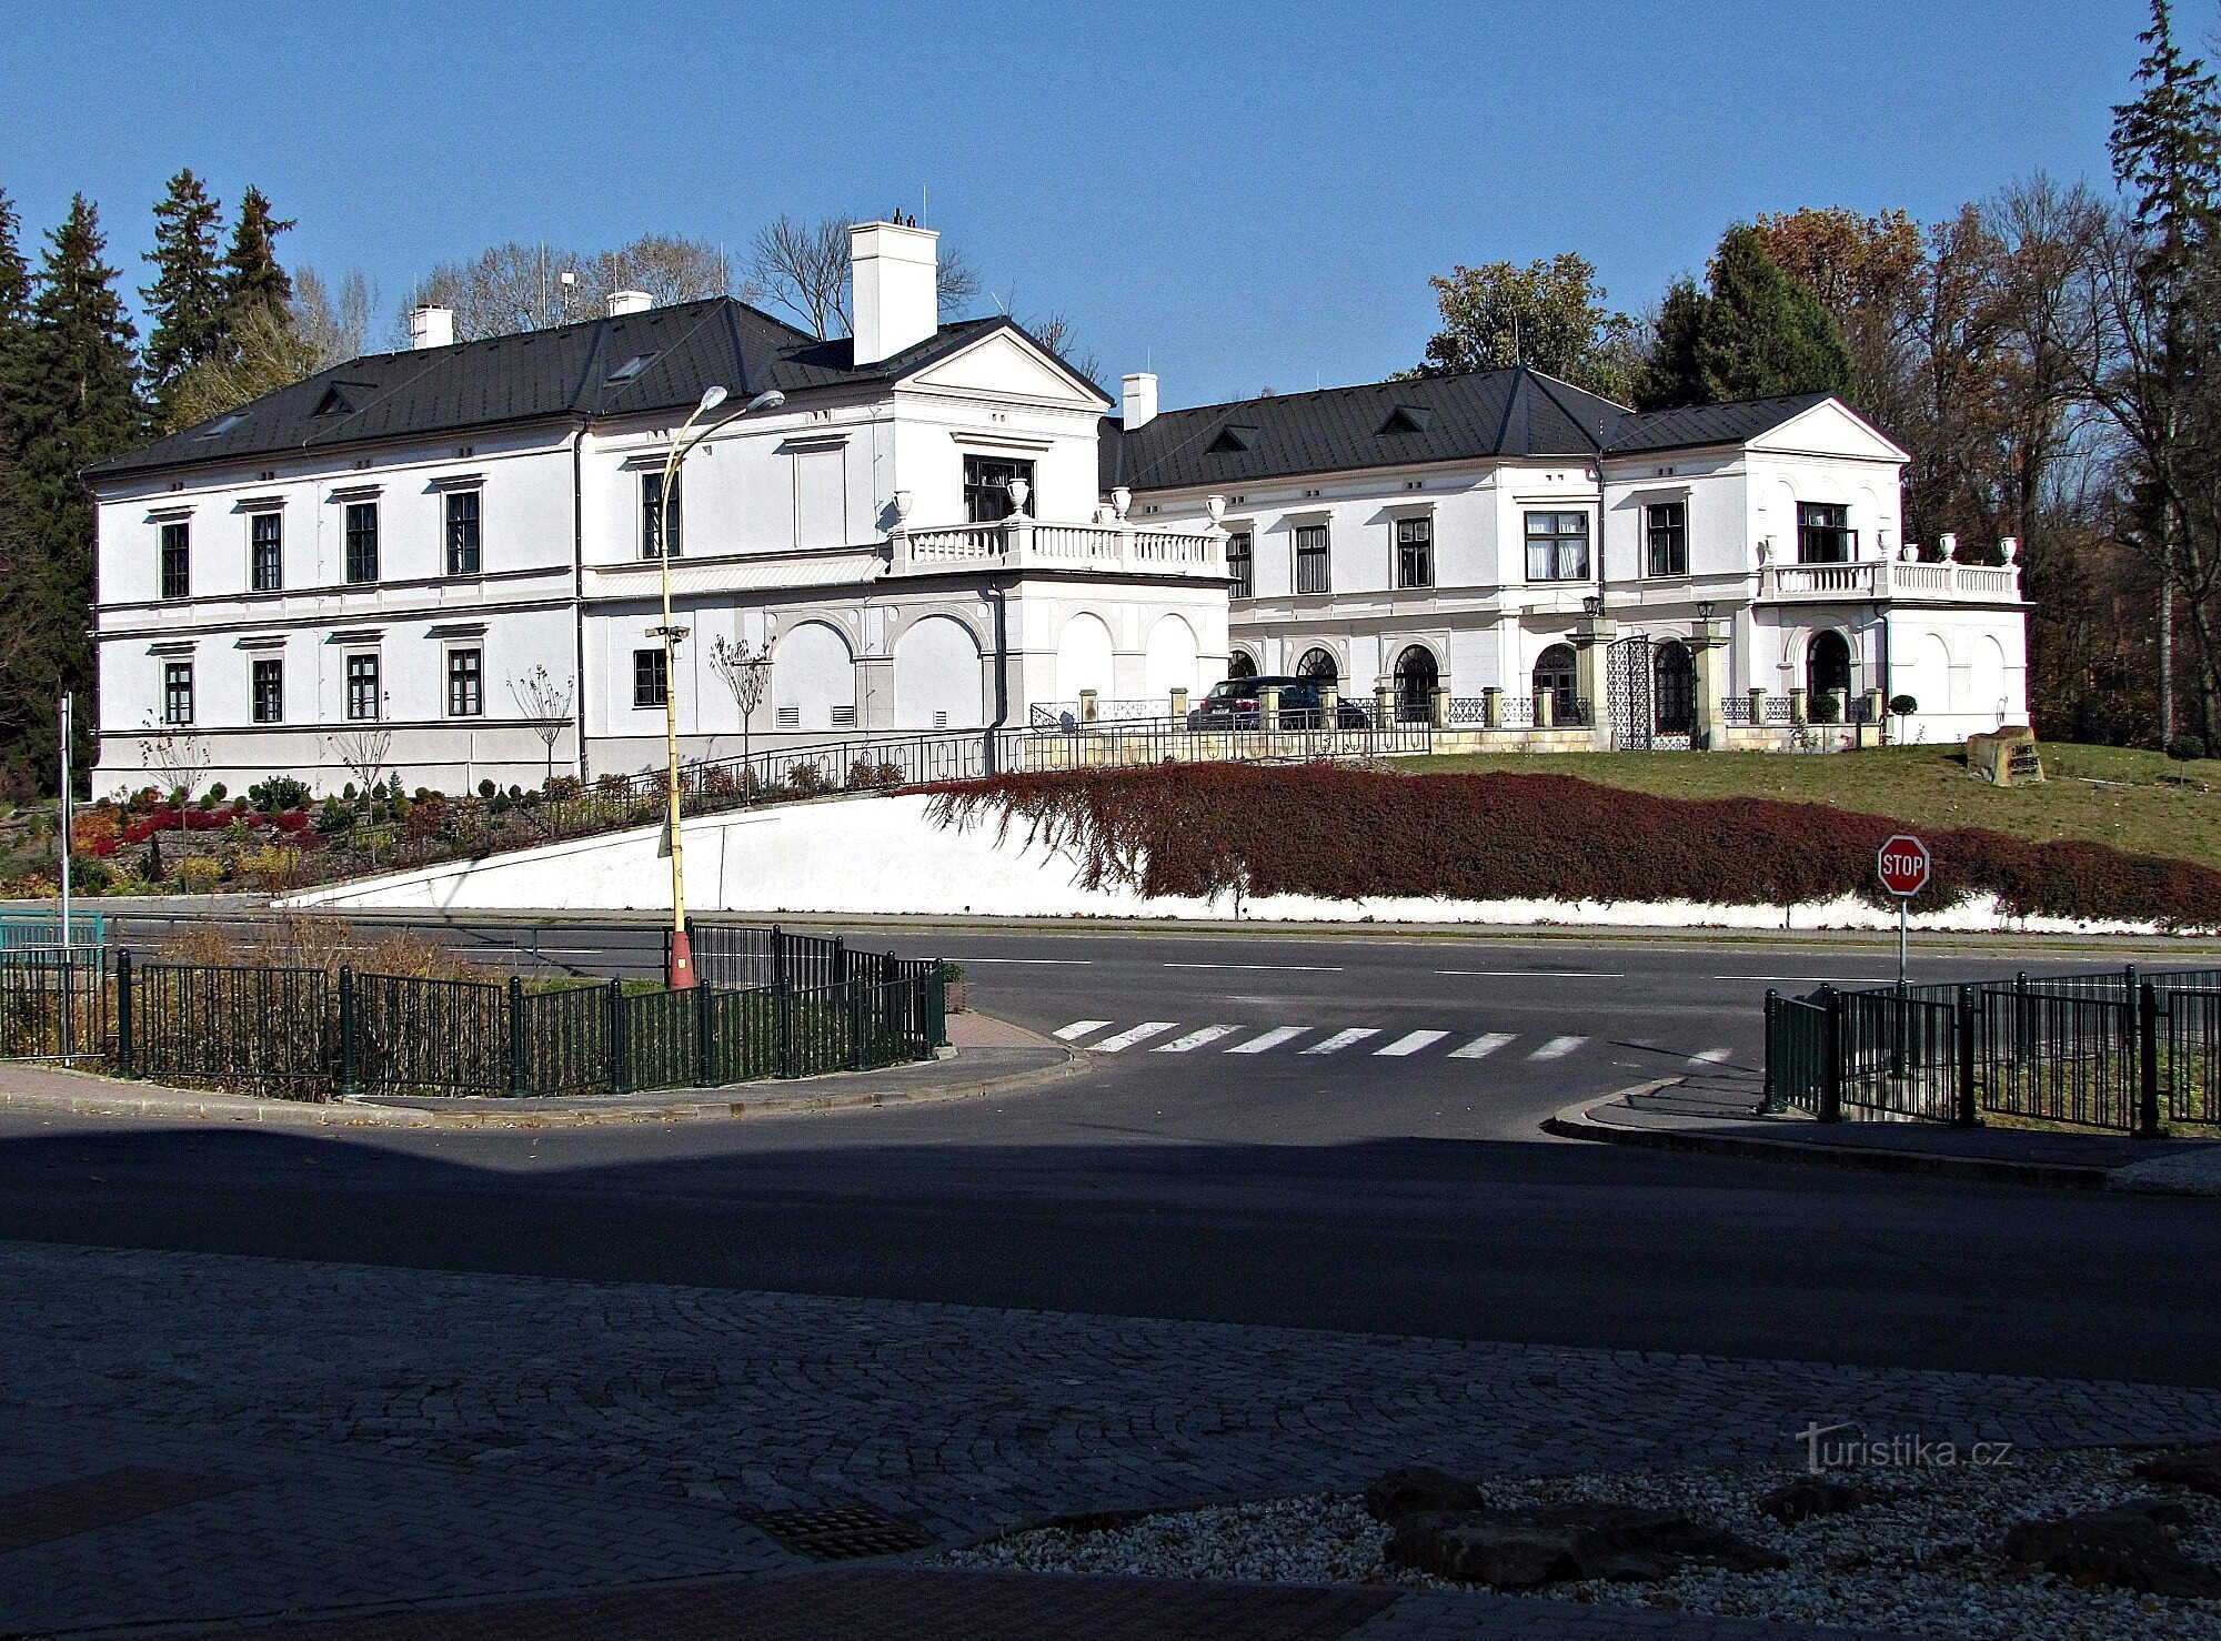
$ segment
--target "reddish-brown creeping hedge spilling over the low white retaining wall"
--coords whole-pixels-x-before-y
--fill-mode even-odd
[[[1068,848],[1088,888],[1146,895],[1444,895],[1781,906],[1863,895],[1901,822],[1761,797],[1650,797],[1570,775],[1388,775],[1184,764],[928,788],[939,824],[993,819]],[[1915,908],[1992,893],[2019,915],[2221,926],[2221,873],[2106,844],[1923,833]]]

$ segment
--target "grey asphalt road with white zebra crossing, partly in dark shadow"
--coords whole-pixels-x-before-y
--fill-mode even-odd
[[[542,959],[591,973],[660,953],[633,930],[555,955],[549,933]],[[0,1237],[2221,1383],[2212,1204],[1539,1137],[1548,1110],[1659,1075],[1755,1093],[1763,988],[1879,979],[1881,953],[860,939],[957,957],[975,1001],[1019,1024],[1093,1021],[1075,1041],[1104,1046],[1095,1075],[1008,1101],[646,1130],[0,1117]]]

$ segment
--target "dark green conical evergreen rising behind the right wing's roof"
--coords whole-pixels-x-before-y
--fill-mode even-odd
[[[1848,393],[1850,351],[1810,291],[1737,222],[1712,255],[1712,295],[1697,333],[1708,400]]]

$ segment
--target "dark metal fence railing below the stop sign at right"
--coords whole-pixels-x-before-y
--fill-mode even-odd
[[[1766,1108],[2143,1137],[2221,1124],[2221,970],[1768,993]]]

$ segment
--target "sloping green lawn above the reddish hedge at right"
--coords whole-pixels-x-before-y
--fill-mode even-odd
[[[1781,797],[1888,815],[1908,828],[1988,826],[2086,837],[2221,868],[2221,762],[2177,764],[2119,746],[2041,748],[2043,786],[1990,786],[1954,746],[1863,753],[1524,753],[1410,757],[1397,768],[1575,775],[1664,797]]]

